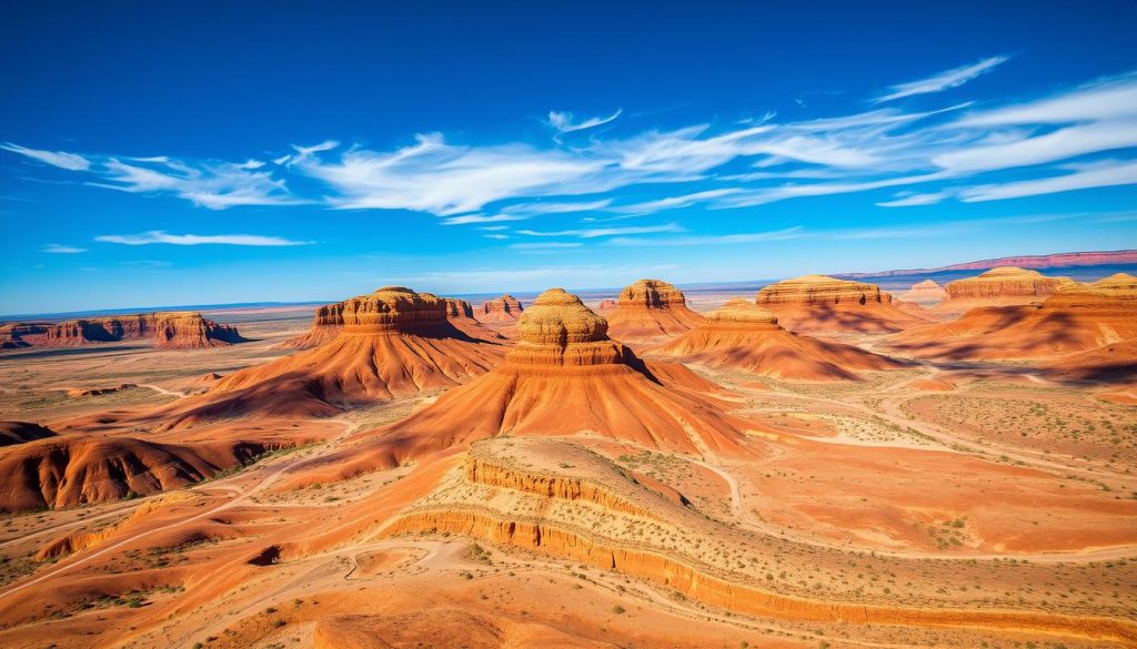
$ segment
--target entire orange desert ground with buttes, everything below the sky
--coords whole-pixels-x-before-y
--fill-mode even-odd
[[[0,331],[0,646],[1137,646],[1137,278]]]

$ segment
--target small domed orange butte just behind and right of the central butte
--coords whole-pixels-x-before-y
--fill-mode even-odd
[[[703,316],[687,308],[683,292],[662,280],[640,280],[620,292],[608,316],[608,333],[616,340],[639,341],[690,331]]]

